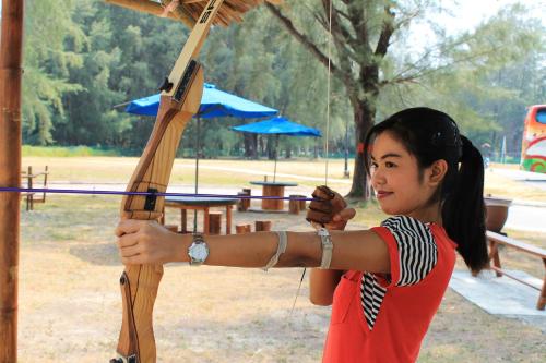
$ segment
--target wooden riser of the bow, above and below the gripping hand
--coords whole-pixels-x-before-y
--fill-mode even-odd
[[[201,104],[204,84],[201,68],[197,69],[191,82],[179,109],[170,96],[162,96],[157,122],[127,191],[166,192],[182,132]],[[121,216],[157,220],[162,217],[164,199],[163,196],[127,195],[121,203]],[[123,314],[117,352],[126,359],[134,355],[139,363],[156,361],[152,316],[162,276],[162,265],[128,265],[124,268],[121,281]]]

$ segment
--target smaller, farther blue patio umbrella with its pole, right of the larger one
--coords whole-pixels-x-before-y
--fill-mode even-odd
[[[232,126],[232,130],[239,132],[249,132],[253,134],[276,135],[275,169],[273,171],[273,181],[275,181],[276,178],[276,148],[278,146],[278,135],[322,137],[320,130],[289,121],[288,119],[283,117],[276,117],[265,121]]]

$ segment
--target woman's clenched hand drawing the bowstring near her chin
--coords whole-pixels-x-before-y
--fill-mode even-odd
[[[306,219],[314,227],[329,230],[344,230],[347,221],[355,217],[355,209],[347,208],[347,203],[340,193],[325,185],[317,186],[312,193]]]

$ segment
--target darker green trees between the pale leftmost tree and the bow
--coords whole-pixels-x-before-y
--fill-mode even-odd
[[[76,1],[72,16],[86,41],[83,66],[70,72],[70,81],[83,89],[64,97],[67,112],[58,120],[55,140],[139,153],[153,122],[134,121],[114,106],[157,90],[178,55],[176,36],[185,34],[183,26],[103,1]]]

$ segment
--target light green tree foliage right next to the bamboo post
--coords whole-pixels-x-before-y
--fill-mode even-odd
[[[46,145],[56,114],[64,113],[62,97],[82,87],[69,73],[82,65],[79,53],[84,35],[72,21],[74,1],[26,2],[23,82],[23,141]],[[45,41],[47,39],[47,41]]]

